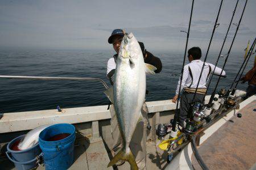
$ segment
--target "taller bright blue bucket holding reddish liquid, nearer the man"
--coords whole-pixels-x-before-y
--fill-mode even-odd
[[[70,134],[67,138],[47,141],[55,135]],[[39,146],[43,152],[44,167],[48,169],[68,169],[74,161],[75,127],[60,123],[45,128],[39,134]]]

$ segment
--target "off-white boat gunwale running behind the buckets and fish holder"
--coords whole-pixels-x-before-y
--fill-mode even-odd
[[[210,96],[206,96],[205,102]],[[147,139],[156,140],[155,125],[169,123],[174,117],[176,103],[171,100],[146,102],[148,119],[152,131],[147,134]],[[88,106],[62,109],[61,112],[53,110],[23,111],[15,113],[2,113],[0,119],[0,136],[9,132],[31,130],[35,127],[51,123],[75,124],[85,136],[92,141],[100,136],[108,136],[110,133],[110,112],[108,105]],[[1,135],[2,134],[2,135]]]

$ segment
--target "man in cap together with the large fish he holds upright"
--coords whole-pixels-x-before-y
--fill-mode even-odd
[[[108,42],[117,52],[109,59],[107,69],[107,77],[114,86],[115,102],[110,106],[113,146],[109,148],[114,158],[109,166],[122,165],[125,160],[132,169],[146,169],[145,69],[148,73],[159,73],[162,63],[146,51],[144,44],[137,42],[133,34],[125,34],[121,29],[115,29]]]

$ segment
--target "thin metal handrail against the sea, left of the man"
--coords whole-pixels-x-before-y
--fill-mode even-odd
[[[106,89],[108,85],[101,78],[92,78],[92,77],[40,77],[40,76],[3,76],[0,78],[26,78],[26,79],[36,79],[36,80],[81,80],[81,81],[100,81]]]

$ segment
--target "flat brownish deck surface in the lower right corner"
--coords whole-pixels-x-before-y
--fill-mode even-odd
[[[256,98],[239,111],[242,118],[234,115],[198,147],[200,156],[209,169],[253,167],[256,163],[256,111],[253,111],[254,109],[256,109]],[[192,165],[195,169],[201,169],[195,156],[192,156]]]

